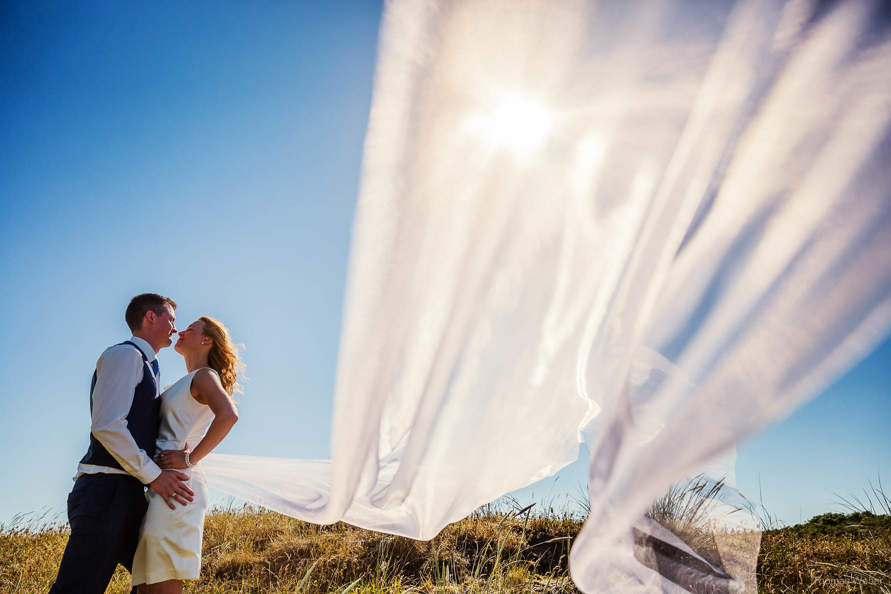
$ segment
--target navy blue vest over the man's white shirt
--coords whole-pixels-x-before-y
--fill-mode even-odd
[[[158,395],[158,388],[155,387],[155,378],[151,373],[151,369],[147,363],[148,357],[143,353],[143,349],[127,340],[119,343],[119,345],[134,346],[139,354],[143,355],[143,378],[136,384],[133,393],[133,404],[130,405],[130,411],[127,412],[127,431],[133,435],[136,445],[149,455],[149,458],[155,455],[155,441],[158,439],[158,428],[160,425],[160,409],[161,399]],[[118,345],[118,346],[119,346]],[[93,390],[96,387],[96,372],[93,372],[93,382],[90,384],[90,414],[93,413]],[[86,456],[80,460],[81,464],[94,464],[96,466],[107,466],[109,468],[124,468],[118,460],[115,460],[105,446],[90,433],[90,449],[86,451]]]

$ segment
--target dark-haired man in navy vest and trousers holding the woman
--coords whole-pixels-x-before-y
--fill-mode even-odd
[[[71,536],[50,594],[102,594],[118,564],[133,569],[148,500],[143,484],[170,509],[192,492],[155,453],[160,420],[158,351],[176,333],[176,303],[155,293],[133,297],[125,318],[133,336],[96,362],[90,387],[90,447],[68,496]]]

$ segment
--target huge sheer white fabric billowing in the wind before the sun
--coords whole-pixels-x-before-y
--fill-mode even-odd
[[[211,455],[210,484],[429,539],[584,442],[581,590],[752,590],[758,525],[727,513],[732,478],[711,557],[642,510],[887,333],[888,19],[865,1],[388,3],[331,460]]]

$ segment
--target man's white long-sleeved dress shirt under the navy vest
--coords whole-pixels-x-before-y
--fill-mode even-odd
[[[78,464],[78,476],[96,472],[112,474],[130,474],[143,484],[149,484],[158,478],[161,469],[155,464],[145,450],[136,445],[133,435],[127,430],[127,414],[133,404],[136,386],[143,380],[143,371],[148,366],[151,373],[151,362],[157,359],[155,349],[142,338],[130,337],[130,342],[143,349],[148,362],[143,362],[143,355],[133,346],[115,345],[102,352],[96,362],[96,385],[93,388],[93,421],[90,431],[105,449],[120,462],[124,470],[97,466],[95,464]],[[159,378],[155,378],[159,386]]]

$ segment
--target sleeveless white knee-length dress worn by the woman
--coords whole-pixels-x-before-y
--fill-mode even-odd
[[[208,432],[214,413],[207,404],[192,398],[192,378],[198,371],[180,378],[161,394],[158,452],[181,450],[185,443],[194,448]],[[193,580],[200,575],[208,487],[200,465],[180,472],[190,476],[186,484],[195,492],[188,505],[175,502],[176,509],[170,509],[158,493],[151,489],[145,493],[149,509],[133,559],[133,584]]]

